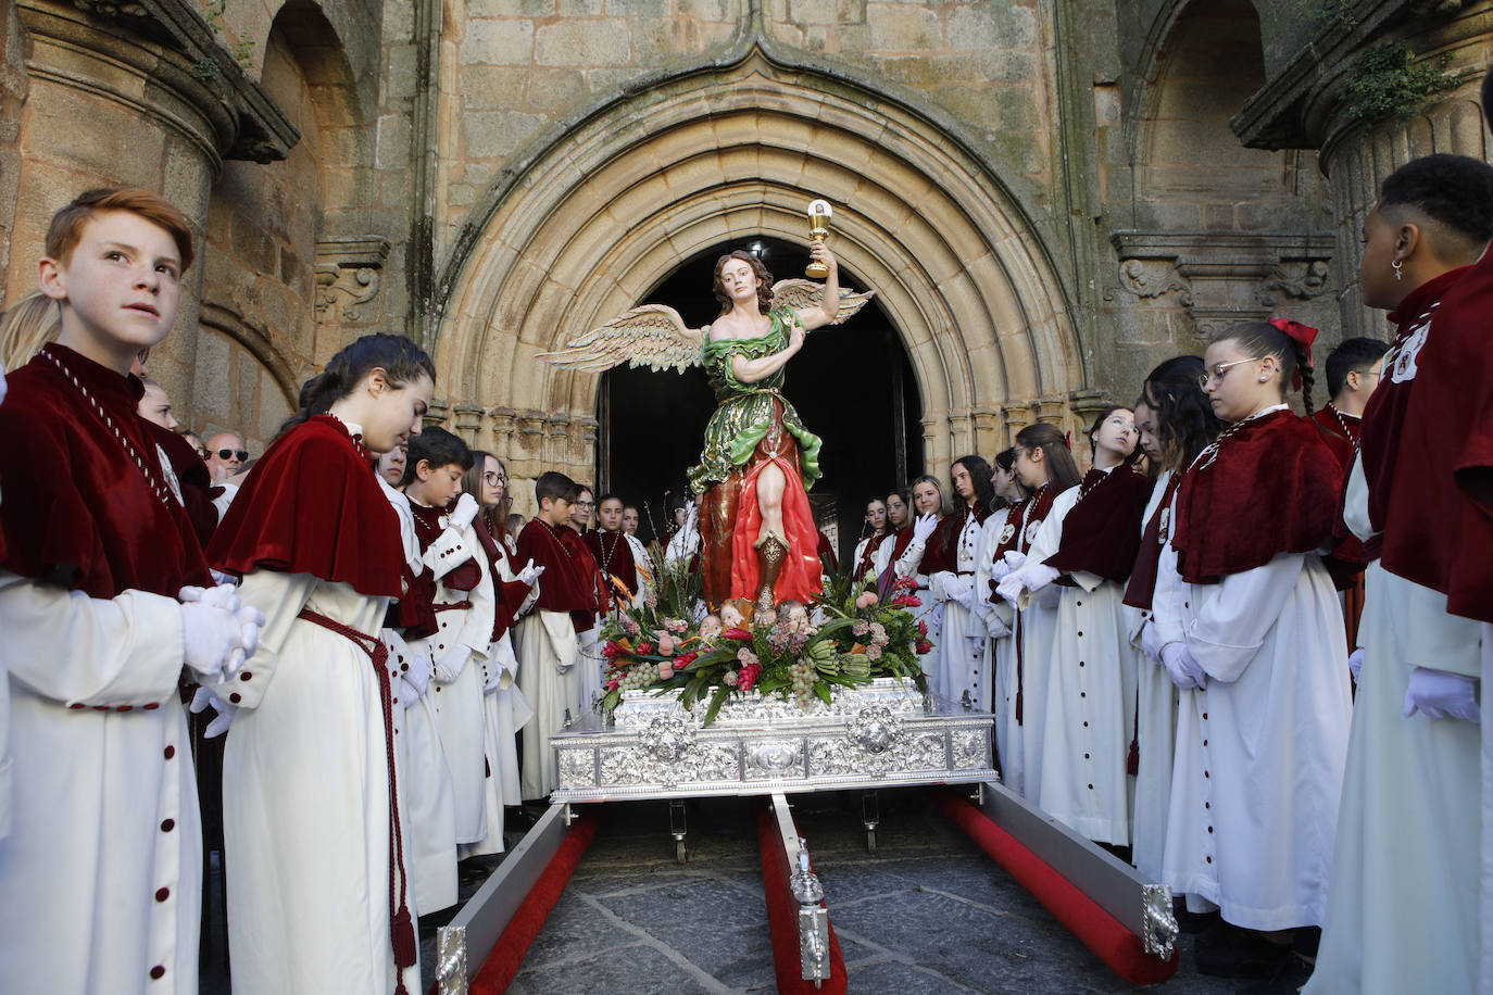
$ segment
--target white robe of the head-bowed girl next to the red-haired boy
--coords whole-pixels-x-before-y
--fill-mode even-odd
[[[352,640],[297,618],[309,607],[376,634],[388,600],[267,570],[248,574],[240,597],[267,622],[228,685],[239,695],[222,761],[233,992],[393,992],[379,680]],[[408,868],[408,840],[402,856]],[[403,982],[420,991],[418,964]]]

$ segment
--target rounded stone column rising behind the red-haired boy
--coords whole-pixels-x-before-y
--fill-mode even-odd
[[[161,192],[202,248],[222,160],[282,160],[300,140],[193,0],[18,0],[16,10],[28,88],[12,260],[34,261],[52,212],[112,183]],[[190,270],[176,330],[151,355],[151,373],[181,398],[191,397],[203,269]],[[30,264],[12,266],[7,297],[30,279]]]

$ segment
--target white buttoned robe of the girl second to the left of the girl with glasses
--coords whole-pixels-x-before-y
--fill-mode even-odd
[[[1057,495],[1032,540],[1029,562],[1057,553],[1063,521],[1081,488]],[[1135,718],[1135,650],[1120,615],[1124,589],[1114,580],[1078,571],[1076,586],[1057,591],[1057,628],[1045,664],[1041,722],[1042,767],[1027,780],[1045,813],[1090,840],[1130,843],[1126,759]],[[1041,592],[1038,592],[1041,594]],[[1027,680],[1027,688],[1033,686]]]

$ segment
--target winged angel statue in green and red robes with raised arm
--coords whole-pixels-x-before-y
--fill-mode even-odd
[[[712,324],[685,328],[673,307],[643,304],[539,357],[597,373],[623,362],[681,373],[705,365],[717,407],[690,489],[703,494],[702,594],[712,609],[748,598],[769,612],[821,589],[808,495],[820,477],[820,439],[782,395],[784,367],[806,333],[845,321],[872,292],[841,291],[839,267],[823,242],[811,243],[809,257],[829,267],[823,286],[775,285],[761,260],[736,249],[715,261],[721,315]]]

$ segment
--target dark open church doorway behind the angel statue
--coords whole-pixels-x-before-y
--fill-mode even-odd
[[[715,261],[738,248],[757,252],[776,279],[803,276],[809,263],[805,248],[776,239],[721,243],[693,257],[638,303],[676,307],[691,328],[714,321],[720,313],[711,294]],[[841,282],[866,289],[844,269]],[[861,536],[866,500],[905,486],[923,467],[923,410],[912,364],[875,298],[844,325],[809,334],[788,364],[784,394],[824,440],[824,476],[809,491],[809,503],[844,564]],[[714,410],[715,395],[699,367],[682,376],[627,367],[603,374],[599,483],[645,506],[638,530],[643,542],[672,528],[673,507],[688,492],[685,471],[699,462],[700,437]]]

